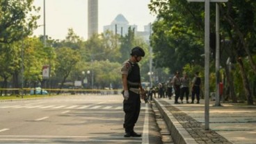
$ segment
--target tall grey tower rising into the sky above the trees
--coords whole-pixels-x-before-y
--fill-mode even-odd
[[[88,0],[88,39],[98,33],[98,0]]]

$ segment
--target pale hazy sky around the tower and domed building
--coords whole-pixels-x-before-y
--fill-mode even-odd
[[[38,25],[43,24],[43,1],[34,0],[34,6],[40,6]],[[103,26],[111,24],[118,14],[122,14],[130,25],[136,24],[138,30],[154,21],[147,4],[150,0],[98,0],[99,33]],[[45,0],[46,35],[52,39],[65,39],[67,28],[73,28],[74,33],[87,39],[88,0]],[[34,31],[34,35],[43,35],[43,26]]]

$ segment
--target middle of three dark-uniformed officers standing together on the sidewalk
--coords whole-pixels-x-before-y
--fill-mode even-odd
[[[186,103],[189,103],[189,78],[186,73],[184,73],[183,77],[180,79],[182,83],[181,95],[180,100],[183,103],[184,95],[186,95]]]

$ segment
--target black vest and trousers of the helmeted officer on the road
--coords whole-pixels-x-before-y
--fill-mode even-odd
[[[141,82],[140,68],[137,63],[131,63],[131,71],[127,77],[128,87],[138,89],[136,83]],[[131,82],[132,84],[129,84]],[[124,100],[124,111],[125,111],[125,123],[124,128],[125,132],[130,133],[134,132],[134,125],[138,120],[138,115],[141,110],[141,97],[139,93],[135,93],[129,90],[128,100]]]

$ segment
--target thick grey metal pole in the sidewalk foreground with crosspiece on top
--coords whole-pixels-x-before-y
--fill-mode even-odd
[[[209,130],[209,32],[210,2],[227,2],[228,0],[187,0],[205,2],[205,130]]]

